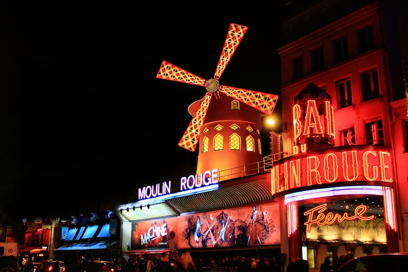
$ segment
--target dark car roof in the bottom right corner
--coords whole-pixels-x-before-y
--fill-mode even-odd
[[[336,272],[405,272],[407,267],[408,253],[387,253],[355,257]]]

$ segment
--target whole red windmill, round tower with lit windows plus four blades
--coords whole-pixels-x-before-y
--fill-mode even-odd
[[[219,169],[219,180],[250,174],[262,161],[261,116],[270,115],[277,95],[220,85],[228,62],[234,55],[247,27],[232,23],[222,48],[214,77],[206,80],[166,61],[157,78],[203,86],[207,93],[193,102],[193,116],[179,146],[195,151],[199,147],[197,174]]]

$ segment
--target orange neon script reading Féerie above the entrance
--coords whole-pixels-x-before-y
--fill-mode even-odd
[[[346,206],[346,209],[348,209],[348,206]],[[321,204],[303,213],[303,215],[308,216],[307,221],[304,223],[304,225],[307,226],[307,230],[306,230],[307,232],[310,232],[310,229],[312,228],[313,224],[316,224],[318,226],[323,226],[323,225],[331,225],[336,222],[341,223],[346,220],[365,220],[367,221],[367,220],[374,219],[374,215],[364,216],[364,213],[367,211],[366,205],[359,205],[355,207],[354,215],[351,215],[351,216],[347,212],[344,212],[343,214],[334,213],[334,212],[324,213],[326,210],[327,210],[327,204]]]

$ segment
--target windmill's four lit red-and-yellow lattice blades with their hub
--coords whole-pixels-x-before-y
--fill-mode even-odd
[[[220,85],[218,81],[228,62],[230,62],[234,55],[247,29],[247,26],[243,25],[234,23],[230,25],[214,77],[209,80],[203,79],[166,61],[162,62],[160,70],[156,76],[157,78],[204,86],[207,90],[207,93],[199,103],[193,103],[190,105],[189,112],[192,114],[193,119],[184,132],[183,137],[179,142],[179,146],[190,151],[195,151],[200,133],[202,132],[202,126],[205,124],[206,116],[208,117],[209,115],[208,110],[213,97],[215,97],[216,100],[222,100],[222,98],[225,97],[224,95],[226,95],[230,100],[238,100],[263,114],[269,115],[273,112],[278,98],[277,95],[224,86]],[[214,99],[211,103],[215,103]],[[223,120],[222,113],[217,112],[216,115],[218,120]]]

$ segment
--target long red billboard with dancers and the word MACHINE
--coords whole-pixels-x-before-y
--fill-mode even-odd
[[[132,224],[132,250],[250,247],[281,243],[279,204],[227,208]]]

